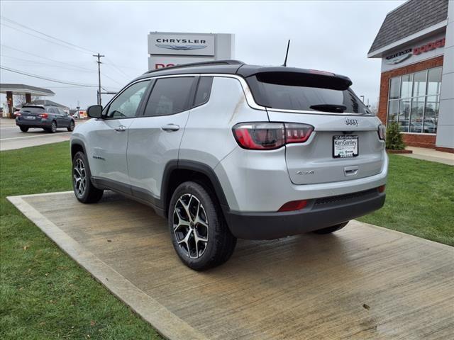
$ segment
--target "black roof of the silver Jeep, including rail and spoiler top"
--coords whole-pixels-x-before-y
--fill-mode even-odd
[[[142,74],[137,79],[148,78],[150,76],[167,76],[176,74],[238,74],[241,77],[250,77],[258,73],[277,74],[277,73],[299,73],[299,74],[314,74],[317,77],[333,77],[342,79],[344,82],[352,84],[348,77],[330,72],[316,71],[313,69],[299,69],[296,67],[269,67],[249,65],[238,60],[216,60],[214,62],[195,62],[192,64],[182,64],[174,67],[166,67],[165,69],[156,69]],[[135,79],[135,80],[137,80]]]

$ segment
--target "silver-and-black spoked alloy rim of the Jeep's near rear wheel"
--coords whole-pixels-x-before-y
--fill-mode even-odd
[[[173,210],[173,232],[180,249],[190,259],[199,259],[208,245],[208,218],[196,196],[185,193]]]

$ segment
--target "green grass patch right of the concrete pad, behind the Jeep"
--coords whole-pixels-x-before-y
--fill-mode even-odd
[[[360,221],[454,246],[454,166],[390,154],[386,193]]]

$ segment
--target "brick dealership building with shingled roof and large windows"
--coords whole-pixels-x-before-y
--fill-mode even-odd
[[[367,57],[382,60],[382,122],[398,122],[406,145],[454,152],[454,1],[395,8]]]

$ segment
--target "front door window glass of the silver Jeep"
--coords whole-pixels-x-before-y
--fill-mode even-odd
[[[128,87],[109,105],[106,113],[107,118],[130,118],[134,117],[140,101],[150,81],[140,81]]]

